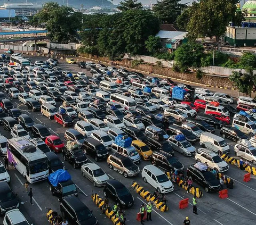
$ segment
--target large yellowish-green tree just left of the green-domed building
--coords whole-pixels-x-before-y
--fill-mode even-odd
[[[219,41],[237,12],[238,2],[239,0],[193,2],[178,17],[178,26],[188,31],[187,36],[190,40],[215,36]]]

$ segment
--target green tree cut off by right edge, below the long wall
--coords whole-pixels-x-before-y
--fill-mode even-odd
[[[233,71],[229,79],[234,82],[234,85],[236,86],[238,91],[241,91],[242,93],[251,96],[253,86],[256,81],[256,76],[253,73],[253,68],[247,68],[246,73],[242,73],[241,71]]]

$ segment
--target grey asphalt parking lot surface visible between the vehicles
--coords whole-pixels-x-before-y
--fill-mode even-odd
[[[29,56],[31,60],[34,62],[35,60],[46,60],[46,57],[42,56]],[[85,69],[79,69],[77,65],[70,65],[65,63],[64,60],[59,60],[59,66],[63,70],[69,70],[72,73],[77,72],[85,72],[87,76],[91,76],[89,71]],[[198,87],[194,86],[193,87]],[[209,88],[212,91],[217,91],[218,89]],[[226,92],[229,93],[231,90],[218,90],[218,92]],[[233,91],[233,96],[237,95],[235,91]],[[45,116],[41,114],[41,112],[32,112],[28,110],[24,104],[21,104],[17,99],[13,99],[12,103],[14,107],[20,109],[22,112],[31,116],[31,118],[36,123],[41,123],[45,127],[47,127],[50,132],[54,135],[58,135],[63,140],[63,135],[68,128],[63,128],[60,124],[55,123],[54,120],[49,120]],[[57,103],[57,108],[60,106],[60,103]],[[74,123],[78,121],[76,117],[74,119]],[[6,138],[10,138],[10,133],[6,130],[2,129],[2,135],[6,136]],[[215,134],[219,135],[219,130],[215,132]],[[226,139],[227,143],[230,145],[230,154],[235,157],[234,154],[234,145],[236,144],[234,141]],[[193,144],[194,147],[199,148],[199,142]],[[80,169],[74,169],[73,165],[64,161],[61,154],[58,154],[61,161],[64,162],[65,168],[71,174],[72,180],[75,182],[78,190],[78,198],[84,202],[90,210],[93,210],[93,214],[99,221],[99,224],[113,224],[113,222],[107,218],[106,215],[101,214],[101,211],[98,209],[97,205],[93,203],[91,195],[93,193],[98,193],[100,197],[103,198],[103,189],[99,187],[94,187],[92,183],[82,176]],[[175,156],[177,159],[185,166],[185,169],[190,165],[195,163],[194,157],[185,157],[182,154],[175,152]],[[87,156],[89,160],[95,162],[90,156]],[[1,159],[3,161],[3,159]],[[145,189],[149,190],[151,193],[154,192],[154,188],[150,186],[148,183],[143,182],[141,175],[139,174],[137,177],[133,178],[124,178],[121,174],[117,173],[114,170],[110,170],[106,161],[97,162],[97,164],[108,174],[110,178],[117,179],[121,181],[127,188],[131,190],[132,195],[134,196],[134,205],[130,209],[125,209],[124,214],[126,218],[126,224],[134,224],[139,222],[136,219],[137,213],[139,212],[140,205],[145,202],[145,199],[141,198],[134,190],[131,189],[132,181],[138,182]],[[142,161],[139,164],[140,169],[142,169],[145,165],[150,164],[150,161]],[[205,193],[203,190],[204,196],[198,199],[198,215],[193,214],[193,206],[192,198],[193,195],[190,193],[186,193],[184,189],[181,187],[174,185],[174,191],[172,193],[166,194],[167,197],[167,206],[169,207],[169,211],[161,212],[155,209],[152,212],[152,220],[153,221],[145,221],[145,224],[170,224],[170,225],[179,225],[183,224],[183,220],[185,220],[186,216],[189,217],[191,224],[254,224],[256,220],[256,180],[255,177],[252,176],[251,181],[244,182],[244,174],[246,172],[239,170],[234,165],[229,165],[229,170],[225,172],[226,176],[230,177],[234,180],[234,189],[228,189],[228,198],[221,199],[218,196],[218,193]],[[37,182],[30,187],[33,188],[34,193],[34,206],[29,204],[29,196],[26,193],[24,182],[25,179],[21,176],[21,174],[12,168],[10,165],[9,174],[11,176],[11,188],[18,194],[18,198],[20,201],[20,210],[25,215],[30,223],[34,225],[39,224],[48,224],[45,213],[48,208],[53,209],[54,211],[59,211],[59,202],[57,197],[52,196],[51,191],[49,190],[49,184],[46,180]],[[199,187],[195,182],[194,186]],[[189,198],[190,205],[183,210],[179,209],[179,201],[184,198]],[[113,206],[114,202],[110,199],[110,205]],[[0,223],[2,223],[3,217],[0,218]]]

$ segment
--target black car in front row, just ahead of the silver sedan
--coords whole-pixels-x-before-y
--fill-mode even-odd
[[[121,207],[131,207],[134,204],[134,198],[129,189],[115,179],[107,180],[103,189],[103,195],[112,198]]]

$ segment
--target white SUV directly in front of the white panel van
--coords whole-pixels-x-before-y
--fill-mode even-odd
[[[229,169],[228,164],[218,154],[206,148],[198,148],[195,159],[197,162],[207,163],[209,168],[218,172],[225,172]]]

